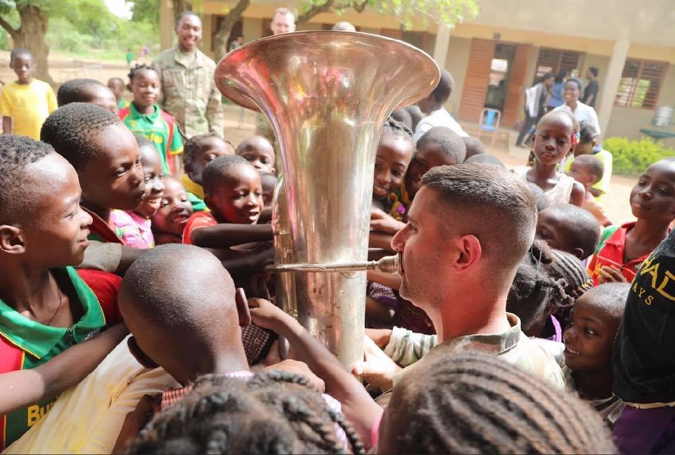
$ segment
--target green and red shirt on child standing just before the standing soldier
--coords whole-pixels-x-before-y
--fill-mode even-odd
[[[162,158],[162,169],[166,173],[173,173],[174,164],[169,156],[183,153],[183,141],[174,117],[161,110],[157,104],[152,114],[143,115],[136,110],[134,103],[129,103],[129,107],[120,110],[120,119],[132,133],[140,134],[155,145]]]

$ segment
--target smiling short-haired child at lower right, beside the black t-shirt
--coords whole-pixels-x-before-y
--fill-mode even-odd
[[[565,327],[565,385],[614,426],[624,403],[612,393],[612,347],[624,315],[628,283],[600,284],[579,297]],[[636,428],[636,431],[638,429]]]

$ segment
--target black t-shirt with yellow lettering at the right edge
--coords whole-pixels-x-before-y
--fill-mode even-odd
[[[631,284],[612,369],[613,391],[625,402],[675,402],[675,230]]]

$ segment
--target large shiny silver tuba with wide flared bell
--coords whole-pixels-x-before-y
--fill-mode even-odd
[[[380,131],[394,109],[435,88],[436,63],[374,34],[295,32],[231,51],[215,81],[226,98],[263,112],[278,140],[276,304],[345,366],[361,360],[366,272],[349,264],[368,256]]]

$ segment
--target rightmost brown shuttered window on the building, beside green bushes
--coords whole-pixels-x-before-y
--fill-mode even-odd
[[[614,104],[643,109],[655,108],[667,69],[667,62],[626,59]]]

